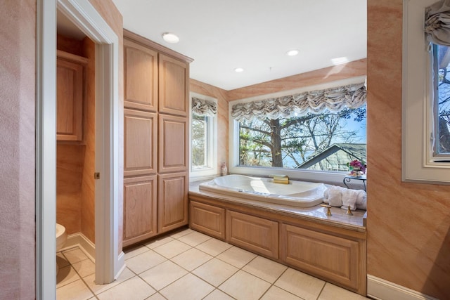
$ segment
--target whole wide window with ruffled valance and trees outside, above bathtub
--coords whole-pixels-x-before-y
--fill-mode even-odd
[[[314,86],[293,95],[230,103],[231,119],[235,119],[231,122],[231,171],[342,182],[348,162],[367,161],[364,79],[350,79],[358,84],[347,86],[323,90]],[[353,103],[345,104],[345,99]],[[308,102],[317,107],[304,104]]]

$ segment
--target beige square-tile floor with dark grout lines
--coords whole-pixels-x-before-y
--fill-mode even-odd
[[[191,229],[127,249],[127,268],[109,285],[94,283],[95,265],[79,248],[57,261],[58,300],[366,299]]]

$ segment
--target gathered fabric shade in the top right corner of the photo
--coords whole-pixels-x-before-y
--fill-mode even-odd
[[[450,0],[425,8],[425,33],[431,43],[450,46]]]

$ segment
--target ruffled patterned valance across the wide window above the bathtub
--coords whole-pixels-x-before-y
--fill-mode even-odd
[[[290,96],[238,103],[231,107],[231,117],[240,122],[243,119],[279,119],[306,115],[308,112],[320,114],[325,110],[338,112],[345,107],[358,108],[366,103],[366,87],[350,84],[330,89],[306,91]]]

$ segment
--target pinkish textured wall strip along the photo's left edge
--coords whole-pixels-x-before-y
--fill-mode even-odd
[[[36,1],[1,1],[1,299],[34,299],[35,33]]]

